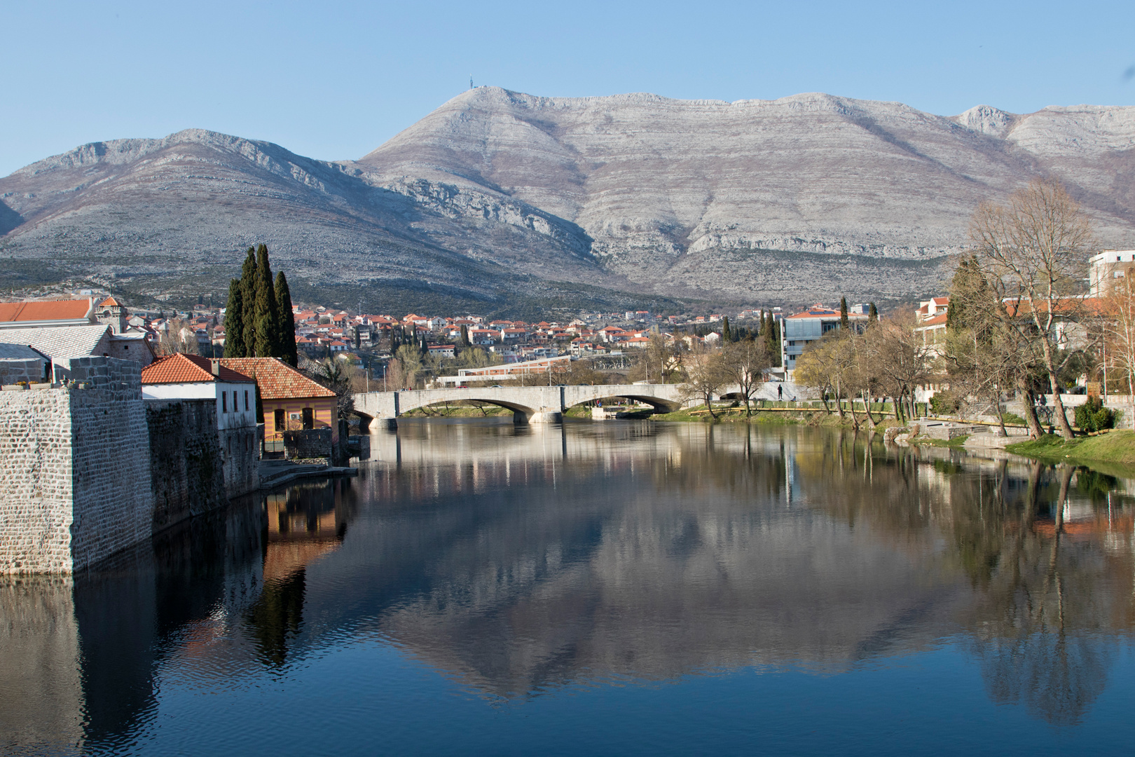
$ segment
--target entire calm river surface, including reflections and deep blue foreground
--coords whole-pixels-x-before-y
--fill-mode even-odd
[[[1135,482],[797,428],[403,422],[0,582],[11,754],[1117,754]]]

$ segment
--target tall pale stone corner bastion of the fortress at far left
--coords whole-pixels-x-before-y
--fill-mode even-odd
[[[150,536],[141,369],[70,363],[76,384],[0,392],[0,573],[69,573]]]

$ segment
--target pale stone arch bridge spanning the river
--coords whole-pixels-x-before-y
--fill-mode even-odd
[[[356,394],[355,413],[364,424],[378,419],[387,426],[418,407],[446,402],[484,402],[507,407],[519,422],[555,422],[569,407],[592,399],[634,399],[659,412],[688,404],[675,384],[605,384],[598,386],[498,386],[482,388],[414,389],[410,392],[368,392]],[[693,401],[696,404],[697,401]]]

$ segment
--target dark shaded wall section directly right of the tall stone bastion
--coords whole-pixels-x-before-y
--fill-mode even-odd
[[[152,530],[227,502],[215,399],[148,399]]]

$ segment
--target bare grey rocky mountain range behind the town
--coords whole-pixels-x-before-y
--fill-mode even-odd
[[[1045,175],[1135,242],[1135,108],[478,87],[358,161],[190,129],[33,163],[0,179],[0,268],[209,291],[267,242],[345,297],[898,301],[940,289],[978,203]]]

